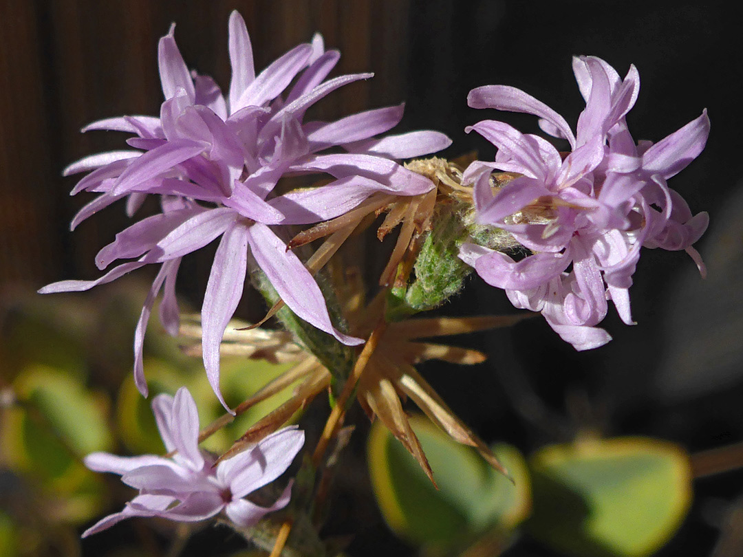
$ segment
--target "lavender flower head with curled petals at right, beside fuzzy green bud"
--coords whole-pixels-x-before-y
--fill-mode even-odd
[[[635,143],[625,120],[640,88],[635,67],[621,79],[602,59],[582,56],[573,70],[585,100],[576,134],[524,91],[505,85],[470,91],[473,108],[536,115],[542,130],[567,140],[571,152],[495,120],[468,128],[498,148],[494,162],[476,161],[464,172],[464,181],[474,183],[478,222],[507,230],[531,254],[514,261],[468,243],[460,257],[503,288],[513,305],[541,312],[562,339],[586,350],[611,340],[596,327],[608,299],[632,324],[628,289],[640,247],[687,250],[704,275],[692,244],[707,229],[707,213],[692,216],[666,180],[704,149],[710,120],[704,111],[658,143]],[[516,177],[493,192],[493,169]]]

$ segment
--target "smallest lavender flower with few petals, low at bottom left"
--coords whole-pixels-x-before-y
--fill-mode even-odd
[[[296,426],[276,431],[252,449],[214,466],[214,457],[198,448],[198,413],[188,389],[178,389],[175,397],[158,395],[152,400],[152,411],[166,449],[175,455],[119,457],[95,452],[85,457],[89,469],[121,475],[121,481],[139,489],[139,495],[121,512],[85,530],[83,538],[134,516],[193,522],[222,510],[239,527],[250,527],[267,512],[288,504],[291,484],[269,507],[244,497],[278,478],[291,464],[305,442],[304,432]]]

